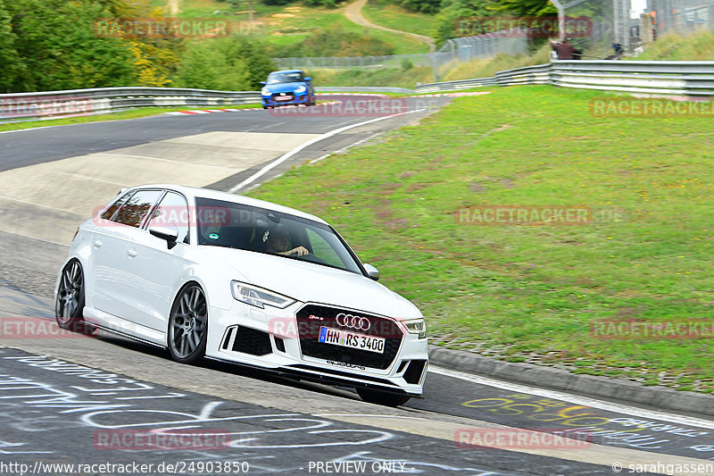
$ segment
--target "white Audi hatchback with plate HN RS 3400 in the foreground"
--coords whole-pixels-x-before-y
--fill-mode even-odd
[[[60,271],[64,329],[108,330],[403,405],[428,367],[419,309],[327,222],[204,188],[124,189],[82,223]]]

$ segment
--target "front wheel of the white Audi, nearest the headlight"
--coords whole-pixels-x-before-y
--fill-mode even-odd
[[[203,289],[196,283],[181,288],[169,316],[168,344],[171,358],[195,363],[203,358],[208,338],[208,307]]]

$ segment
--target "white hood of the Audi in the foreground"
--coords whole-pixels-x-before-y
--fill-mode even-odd
[[[348,307],[400,319],[422,317],[403,296],[366,276],[280,256],[220,246],[201,246],[201,255],[235,270],[232,279],[270,289],[303,303]]]

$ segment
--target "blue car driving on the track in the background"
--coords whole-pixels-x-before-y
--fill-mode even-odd
[[[273,71],[262,81],[262,108],[280,105],[315,105],[315,90],[311,78],[300,70]]]

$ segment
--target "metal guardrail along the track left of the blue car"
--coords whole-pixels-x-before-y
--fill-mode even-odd
[[[146,106],[215,107],[260,102],[257,91],[192,88],[91,88],[0,95],[0,121],[110,113]]]

